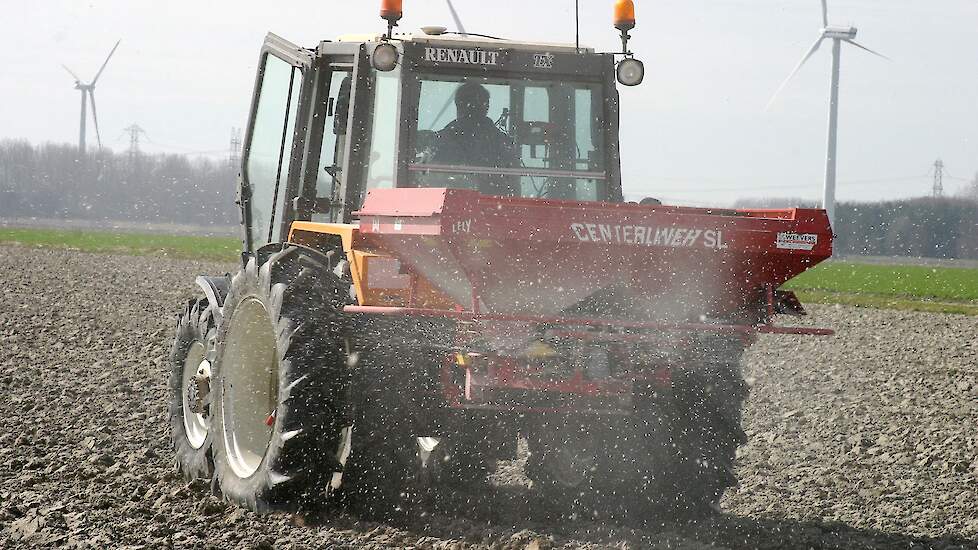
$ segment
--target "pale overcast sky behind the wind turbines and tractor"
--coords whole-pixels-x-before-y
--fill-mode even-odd
[[[581,0],[582,43],[618,45],[612,0]],[[817,37],[818,0],[636,0],[642,86],[622,94],[626,193],[687,204],[821,196],[831,44],[769,111]],[[267,31],[300,45],[383,29],[379,1],[0,0],[0,139],[77,142],[78,92],[60,67],[94,75],[102,141],[145,128],[146,151],[226,156],[246,124]],[[455,0],[469,32],[573,42],[573,0]],[[832,24],[893,60],[842,54],[839,199],[930,191],[940,157],[954,192],[978,171],[978,2],[830,0]],[[453,27],[441,0],[404,2],[401,30]],[[95,142],[89,132],[89,143]]]

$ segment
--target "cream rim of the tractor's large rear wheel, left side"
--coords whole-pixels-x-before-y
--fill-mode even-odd
[[[246,478],[265,458],[278,407],[275,330],[260,300],[249,297],[235,308],[225,342],[221,359],[224,447],[234,473]]]

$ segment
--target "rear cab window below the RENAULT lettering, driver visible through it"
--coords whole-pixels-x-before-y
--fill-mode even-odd
[[[461,75],[423,75],[415,85],[412,186],[605,198],[600,85]]]

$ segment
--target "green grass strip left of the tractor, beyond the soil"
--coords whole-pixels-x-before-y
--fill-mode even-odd
[[[233,237],[196,237],[70,229],[0,228],[0,242],[136,256],[231,262],[241,241]]]

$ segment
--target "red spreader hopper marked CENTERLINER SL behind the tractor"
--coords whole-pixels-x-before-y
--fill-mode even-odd
[[[377,189],[357,215],[361,236],[398,258],[401,273],[419,275],[457,304],[349,308],[361,313],[692,327],[733,318],[765,299],[773,308],[777,287],[832,253],[828,218],[814,209]]]

